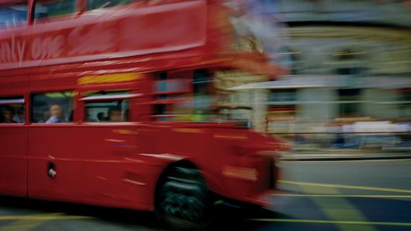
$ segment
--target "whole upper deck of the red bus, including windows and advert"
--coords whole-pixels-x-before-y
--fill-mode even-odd
[[[276,74],[241,14],[219,1],[14,0],[0,3],[0,12],[0,70],[12,73],[224,62]]]

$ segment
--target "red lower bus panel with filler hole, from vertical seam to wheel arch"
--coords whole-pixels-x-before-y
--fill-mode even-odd
[[[47,200],[149,209],[150,165],[136,154],[127,125],[56,125],[29,133],[29,196]],[[57,175],[47,174],[54,163]]]

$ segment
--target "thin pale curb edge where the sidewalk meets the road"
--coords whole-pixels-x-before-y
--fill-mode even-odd
[[[382,156],[373,156],[373,157],[367,157],[364,155],[361,155],[359,157],[353,157],[353,156],[342,156],[342,157],[280,157],[280,161],[366,161],[366,160],[401,160],[401,159],[411,159],[411,155],[397,155],[397,156],[388,156],[388,155],[382,155]]]

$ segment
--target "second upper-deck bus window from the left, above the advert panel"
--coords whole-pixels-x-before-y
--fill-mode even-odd
[[[36,1],[34,19],[54,18],[76,12],[75,0],[40,0]]]

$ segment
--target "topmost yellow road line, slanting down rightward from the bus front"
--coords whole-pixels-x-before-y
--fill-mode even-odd
[[[301,182],[301,181],[292,181],[292,180],[278,180],[280,183],[289,184],[289,185],[306,185],[314,187],[329,187],[329,188],[340,188],[340,189],[360,189],[360,190],[369,190],[369,191],[390,191],[396,193],[411,193],[411,190],[408,189],[390,189],[390,188],[381,188],[381,187],[365,187],[365,186],[354,186],[354,185],[334,185],[334,184],[322,184],[314,182]]]

